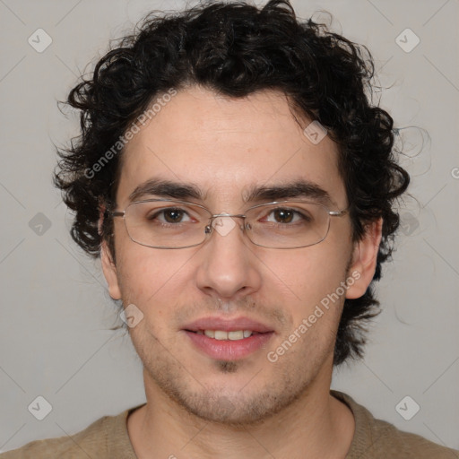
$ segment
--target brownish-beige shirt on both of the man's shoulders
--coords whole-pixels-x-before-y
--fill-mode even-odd
[[[333,390],[331,394],[351,408],[356,422],[346,459],[459,459],[459,451],[376,420],[349,395]],[[72,437],[32,441],[0,455],[0,459],[137,459],[127,434],[126,419],[139,406],[117,416],[104,416]]]

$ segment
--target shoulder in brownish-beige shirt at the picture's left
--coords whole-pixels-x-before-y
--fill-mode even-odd
[[[31,441],[18,449],[0,455],[0,459],[112,459],[113,451],[121,452],[126,459],[135,459],[127,435],[126,418],[130,410],[116,416],[104,416],[86,429],[72,435]]]

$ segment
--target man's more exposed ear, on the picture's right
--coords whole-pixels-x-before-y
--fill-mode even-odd
[[[347,299],[360,298],[373,280],[377,267],[377,252],[381,243],[383,219],[371,222],[361,240],[355,243],[348,274],[355,280],[346,290]]]

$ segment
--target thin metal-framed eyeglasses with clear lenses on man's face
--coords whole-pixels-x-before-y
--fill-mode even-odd
[[[306,201],[282,201],[255,205],[245,214],[212,214],[199,204],[149,199],[128,204],[124,212],[109,213],[123,217],[129,238],[145,247],[199,246],[213,230],[226,236],[237,226],[233,219],[243,219],[238,226],[255,246],[300,248],[323,241],[330,217],[342,217],[347,212],[330,211],[323,204]]]

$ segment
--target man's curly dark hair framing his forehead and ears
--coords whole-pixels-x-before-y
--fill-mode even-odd
[[[105,239],[114,255],[113,221],[108,212],[101,230],[98,221],[100,208],[114,203],[123,150],[109,155],[103,167],[94,166],[158,95],[190,85],[230,98],[281,91],[291,108],[325,126],[339,147],[353,240],[383,218],[376,273],[361,298],[345,299],[333,365],[361,358],[364,325],[380,312],[372,286],[399,226],[394,204],[410,182],[394,157],[393,118],[371,102],[374,73],[366,47],[325,24],[299,21],[288,0],[264,7],[211,1],[183,12],[148,14],[132,35],[112,43],[66,100],[80,110],[82,134],[58,149],[54,179],[75,213],[72,237],[95,257]]]

